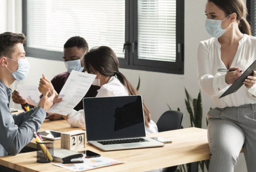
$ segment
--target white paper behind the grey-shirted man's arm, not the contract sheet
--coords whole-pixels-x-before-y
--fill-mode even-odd
[[[28,104],[37,106],[40,101],[40,93],[36,85],[17,85],[19,95],[26,100]]]

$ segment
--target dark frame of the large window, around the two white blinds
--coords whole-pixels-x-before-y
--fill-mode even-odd
[[[137,45],[137,0],[125,1],[124,58],[119,58],[120,68],[184,74],[184,0],[176,0],[176,62],[139,59]],[[22,1],[23,27],[27,35],[27,0]],[[36,49],[24,45],[27,56],[62,61],[63,52]]]

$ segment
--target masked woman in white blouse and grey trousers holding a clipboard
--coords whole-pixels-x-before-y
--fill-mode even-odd
[[[233,172],[242,147],[248,172],[255,172],[256,71],[238,91],[219,97],[256,60],[256,38],[243,18],[243,0],[208,0],[205,13],[206,30],[213,38],[199,43],[197,68],[200,87],[215,105],[208,112],[209,172]]]

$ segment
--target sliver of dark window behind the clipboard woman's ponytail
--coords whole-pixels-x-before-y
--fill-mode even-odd
[[[247,20],[251,25],[252,35],[256,36],[256,0],[246,0],[248,10]]]

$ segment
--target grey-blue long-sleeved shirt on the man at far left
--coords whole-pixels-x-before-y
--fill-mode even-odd
[[[42,107],[17,115],[10,111],[11,89],[0,80],[0,156],[16,155],[40,129],[46,112]]]

